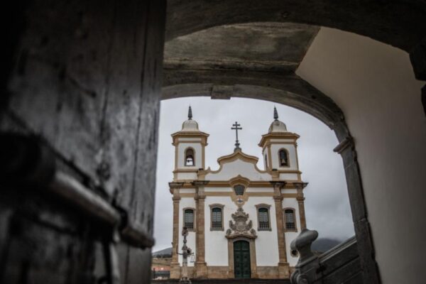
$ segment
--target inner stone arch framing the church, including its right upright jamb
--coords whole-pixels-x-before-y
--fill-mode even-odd
[[[355,236],[358,243],[358,252],[361,267],[364,271],[364,282],[379,283],[378,266],[375,256],[371,253],[374,251],[373,239],[371,236],[370,224],[368,222],[361,173],[356,159],[353,138],[344,121],[343,111],[332,99],[327,97],[327,95],[300,78],[298,79],[300,82],[297,82],[297,84],[293,86],[289,86],[285,82],[276,80],[277,78],[273,76],[269,76],[269,78],[259,78],[258,80],[254,80],[256,75],[252,75],[253,77],[248,76],[244,77],[242,80],[239,80],[240,78],[237,76],[221,78],[222,83],[234,82],[234,84],[229,85],[201,83],[202,80],[197,78],[194,74],[192,77],[188,76],[185,78],[187,81],[195,82],[193,84],[172,84],[169,77],[165,80],[162,99],[202,96],[214,97],[215,90],[222,89],[222,94],[225,93],[226,97],[229,98],[246,97],[251,99],[263,99],[295,107],[296,109],[307,112],[307,114],[315,116],[329,126],[329,128],[334,131],[339,141],[339,144],[334,148],[334,152],[342,155],[352,220],[354,222]],[[181,80],[181,82],[185,82],[185,80]],[[295,80],[297,80],[297,78]],[[209,82],[208,79],[206,81]],[[251,82],[251,84],[244,84],[245,82]],[[253,82],[256,82],[256,85],[253,85]],[[299,89],[300,92],[297,92],[297,89]],[[231,248],[229,247],[229,249]]]

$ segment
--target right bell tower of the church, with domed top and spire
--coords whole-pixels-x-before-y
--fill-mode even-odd
[[[258,144],[262,147],[265,169],[278,170],[280,179],[300,180],[296,142],[300,136],[287,131],[287,126],[278,120],[278,111],[275,107],[273,119],[268,133],[262,135]]]

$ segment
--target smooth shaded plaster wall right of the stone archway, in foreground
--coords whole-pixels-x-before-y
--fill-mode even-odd
[[[408,53],[321,28],[297,75],[344,111],[383,283],[424,283],[425,83],[415,80]]]

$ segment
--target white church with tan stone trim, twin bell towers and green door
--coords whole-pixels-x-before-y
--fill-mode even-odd
[[[296,133],[274,121],[258,146],[258,158],[239,148],[217,159],[218,170],[205,165],[209,134],[200,131],[189,110],[182,130],[172,134],[175,170],[173,195],[173,256],[170,278],[180,278],[181,231],[189,230],[190,278],[289,278],[297,263],[290,242],[306,228],[303,189],[297,160]]]

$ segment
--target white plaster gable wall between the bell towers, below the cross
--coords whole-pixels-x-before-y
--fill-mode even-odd
[[[230,180],[237,175],[242,175],[249,180],[272,180],[268,173],[259,173],[252,163],[244,160],[234,160],[230,163],[224,163],[219,173],[209,173],[206,180]]]

